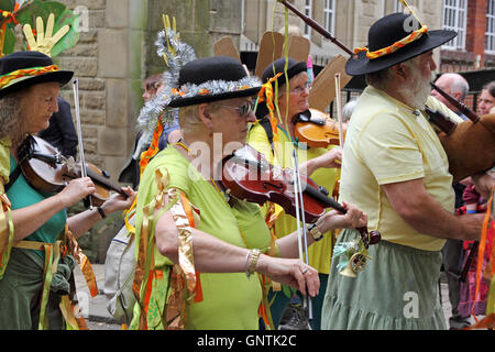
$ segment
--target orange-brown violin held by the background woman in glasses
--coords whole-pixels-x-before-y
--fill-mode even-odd
[[[317,109],[309,109],[294,120],[294,134],[299,142],[307,143],[310,147],[328,147],[339,145],[339,127],[327,113]],[[345,136],[346,128],[343,129]]]

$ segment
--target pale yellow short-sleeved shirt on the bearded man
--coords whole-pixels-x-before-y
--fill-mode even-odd
[[[432,97],[428,106],[460,121]],[[407,224],[381,187],[422,178],[427,191],[447,211],[454,211],[447,154],[427,117],[382,90],[367,87],[352,114],[342,160],[340,200],[365,211],[370,230],[378,230],[384,240],[403,245],[427,251],[443,248],[443,239]]]

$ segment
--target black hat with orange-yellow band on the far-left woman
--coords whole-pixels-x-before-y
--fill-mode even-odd
[[[36,84],[57,81],[63,86],[73,75],[72,70],[58,70],[52,58],[40,52],[12,53],[0,58],[0,99]]]

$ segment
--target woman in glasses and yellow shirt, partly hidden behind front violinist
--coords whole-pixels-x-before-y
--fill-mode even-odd
[[[286,68],[287,67],[287,68]],[[285,75],[287,73],[287,76]],[[275,78],[276,77],[276,78]],[[286,81],[288,80],[288,85]],[[300,114],[310,116],[309,89],[307,64],[296,62],[293,58],[282,57],[263,72],[262,80],[268,89],[277,92],[276,103],[278,109],[273,109],[274,118],[271,118],[268,106],[271,102],[263,100],[256,108],[258,123],[253,125],[248,136],[248,143],[262,153],[266,160],[284,168],[293,168],[293,152],[297,151],[299,169],[311,177],[319,186],[329,191],[334,188],[338,179],[337,167],[342,157],[340,146],[309,147],[306,143],[297,143],[295,128]],[[287,91],[288,89],[288,91]],[[274,99],[275,100],[275,99]],[[331,209],[328,209],[329,211]],[[272,222],[272,231],[280,239],[297,230],[297,219],[286,213],[280,207],[265,204],[263,212],[267,218],[277,213],[276,220]],[[318,227],[318,224],[317,224]],[[324,287],[330,270],[333,237],[330,231],[321,231],[323,237],[310,246],[309,264],[318,270],[321,287]],[[275,327],[278,327],[283,312],[289,301],[287,290],[273,287],[270,298],[274,298],[271,312]],[[312,300],[312,317],[310,321],[314,330],[320,329],[321,305],[324,289]],[[305,319],[301,317],[301,321]],[[302,327],[301,327],[302,328]]]

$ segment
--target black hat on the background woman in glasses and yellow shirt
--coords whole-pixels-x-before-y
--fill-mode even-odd
[[[286,61],[285,57],[280,57],[266,66],[265,70],[262,75],[262,81],[267,82],[268,79],[275,77],[277,74],[284,74],[285,72],[285,64],[287,63],[287,78],[285,75],[282,75],[277,78],[276,82],[278,84],[278,87],[284,85],[286,82],[286,79],[290,79],[297,74],[300,74],[302,72],[307,70],[307,66],[305,62],[296,62],[294,58],[288,57]],[[275,89],[275,81],[272,82],[272,87]],[[266,102],[260,102],[256,108],[256,117],[258,119],[263,119],[265,116],[268,114],[268,108],[266,107]]]

